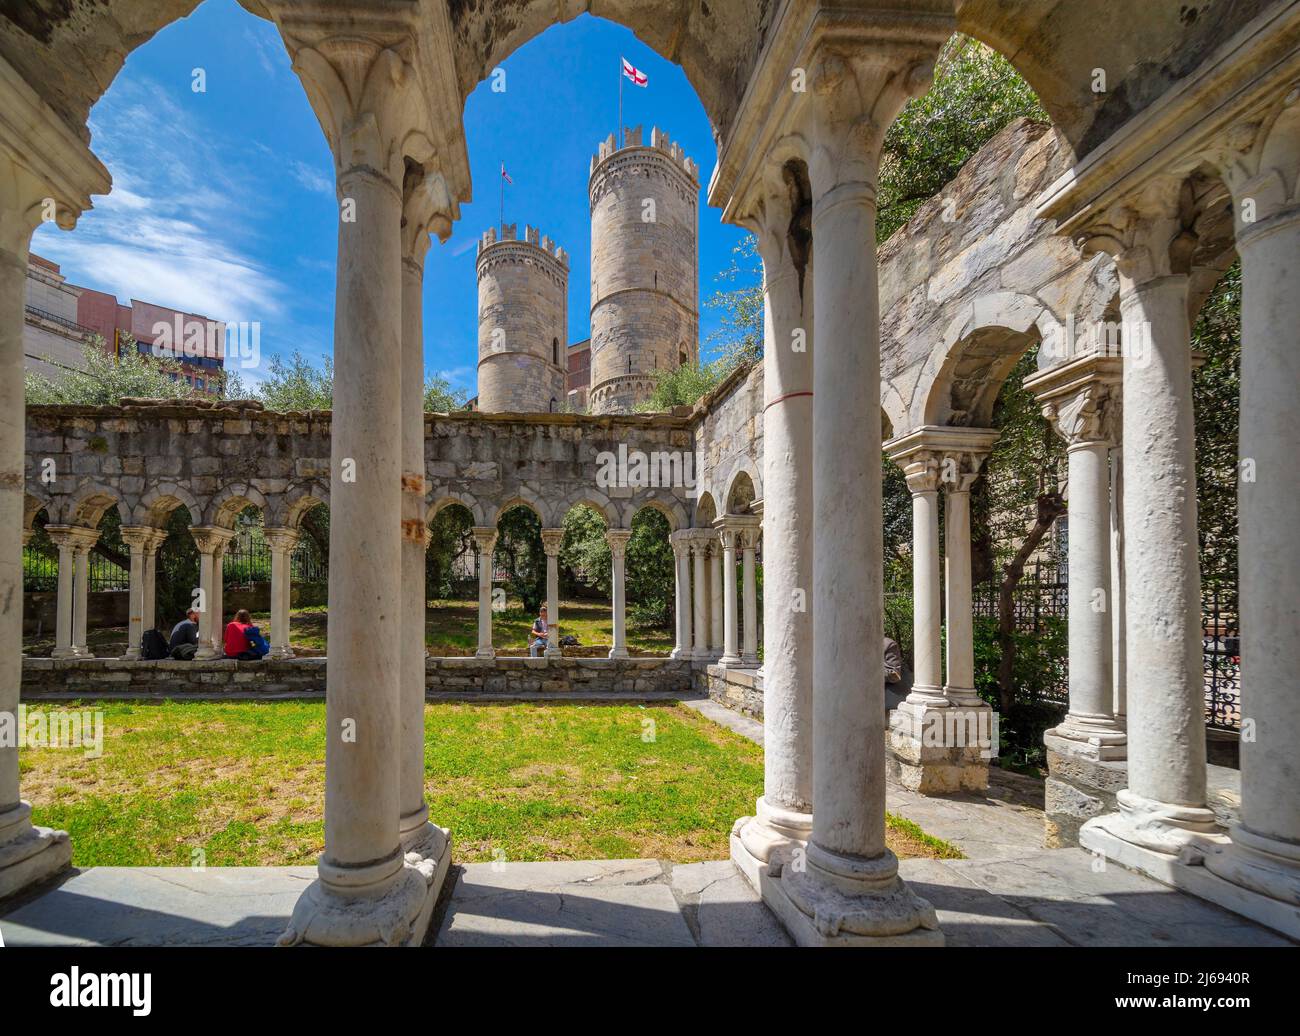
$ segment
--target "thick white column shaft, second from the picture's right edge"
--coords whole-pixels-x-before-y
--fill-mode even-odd
[[[1128,790],[1205,806],[1201,597],[1187,277],[1136,285],[1121,298]]]

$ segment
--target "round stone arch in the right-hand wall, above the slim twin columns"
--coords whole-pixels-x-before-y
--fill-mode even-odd
[[[1056,317],[1041,302],[1015,291],[983,295],[963,305],[926,360],[916,393],[920,408],[910,426],[987,428],[1011,368],[1026,350],[1054,335],[1056,328]],[[887,416],[896,433],[905,425],[888,411]]]

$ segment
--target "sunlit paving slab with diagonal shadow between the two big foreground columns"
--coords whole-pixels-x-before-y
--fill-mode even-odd
[[[438,946],[694,946],[654,859],[471,863]]]

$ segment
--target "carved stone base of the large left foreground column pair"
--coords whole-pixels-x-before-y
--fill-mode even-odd
[[[450,853],[441,862],[403,854],[396,874],[374,883],[370,894],[365,887],[326,884],[317,877],[298,897],[277,945],[419,946],[429,931],[450,859]]]

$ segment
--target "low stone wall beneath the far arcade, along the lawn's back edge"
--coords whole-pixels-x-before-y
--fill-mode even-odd
[[[30,658],[22,699],[324,698],[324,658],[124,662]],[[693,693],[690,663],[667,658],[430,658],[430,699],[664,697]]]

